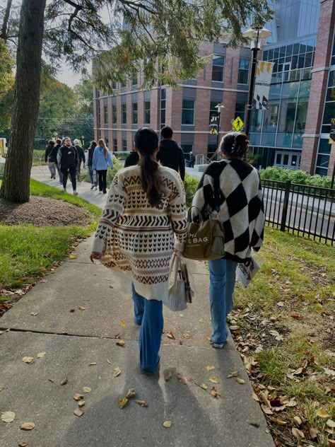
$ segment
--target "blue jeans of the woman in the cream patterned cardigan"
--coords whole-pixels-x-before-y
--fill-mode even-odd
[[[160,339],[163,333],[163,301],[147,300],[131,284],[135,323],[141,325],[139,334],[139,366],[145,373],[154,373],[160,361]]]

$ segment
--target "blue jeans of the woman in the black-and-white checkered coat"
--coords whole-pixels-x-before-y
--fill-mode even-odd
[[[237,262],[217,259],[208,261],[209,267],[209,301],[213,332],[211,341],[224,343],[228,337],[225,320],[233,309],[233,292]]]

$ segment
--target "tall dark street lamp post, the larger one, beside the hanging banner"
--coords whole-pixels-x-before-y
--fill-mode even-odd
[[[259,26],[253,26],[252,28],[249,28],[249,30],[242,33],[244,37],[247,37],[247,39],[250,40],[250,50],[252,50],[252,70],[250,74],[250,81],[249,81],[249,98],[248,98],[248,104],[247,104],[247,117],[245,120],[245,133],[249,135],[250,130],[250,121],[251,121],[251,115],[252,115],[252,104],[254,101],[254,79],[256,74],[256,66],[257,66],[257,52],[260,50],[260,40],[264,37],[270,37],[271,31],[267,30],[266,28],[262,28]]]

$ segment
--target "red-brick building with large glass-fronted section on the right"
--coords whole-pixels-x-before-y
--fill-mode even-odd
[[[335,0],[282,0],[271,4],[275,18],[259,59],[275,63],[268,110],[254,110],[250,143],[258,166],[302,168],[331,175],[335,146],[328,142],[335,117]],[[203,42],[202,55],[212,54],[196,79],[179,88],[155,86],[141,91],[143,74],[116,86],[113,96],[95,90],[95,137],[114,151],[130,151],[136,129],[159,130],[168,124],[185,153],[197,161],[211,156],[216,136],[208,132],[215,106],[223,103],[221,134],[235,117],[245,118],[251,52]]]

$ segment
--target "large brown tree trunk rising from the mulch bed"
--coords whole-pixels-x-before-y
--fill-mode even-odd
[[[0,197],[29,202],[30,170],[40,105],[43,16],[46,0],[23,0],[18,31],[11,138]]]

